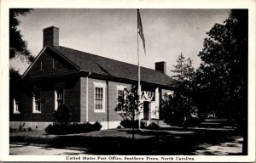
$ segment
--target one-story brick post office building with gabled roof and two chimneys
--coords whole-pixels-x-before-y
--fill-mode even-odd
[[[50,26],[44,29],[44,48],[20,81],[20,90],[10,92],[10,126],[20,125],[21,117],[26,127],[44,129],[58,104],[66,104],[71,121],[113,128],[122,120],[114,111],[119,95],[137,85],[137,65],[61,47],[59,28]],[[155,63],[155,70],[141,67],[141,119],[160,118],[160,99],[172,92],[171,82],[165,62]]]

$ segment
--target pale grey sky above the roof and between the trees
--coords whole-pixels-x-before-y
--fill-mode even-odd
[[[60,45],[109,59],[154,69],[154,63],[166,62],[166,74],[183,53],[191,58],[195,69],[201,63],[198,53],[204,38],[215,23],[223,23],[230,9],[140,9],[146,54],[139,37],[137,46],[137,9],[135,8],[35,8],[31,14],[19,16],[18,27],[27,48],[37,56],[43,48],[43,29],[60,28]],[[12,59],[10,66],[22,74],[26,61]]]

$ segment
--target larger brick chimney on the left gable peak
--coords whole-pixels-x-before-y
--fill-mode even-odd
[[[55,26],[49,26],[44,28],[44,47],[46,45],[59,47],[59,28]]]

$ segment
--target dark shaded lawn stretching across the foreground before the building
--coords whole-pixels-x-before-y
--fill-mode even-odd
[[[95,155],[192,155],[196,149],[223,143],[236,135],[232,130],[110,129],[68,135],[46,132],[13,132],[10,142],[46,143],[54,147],[81,147]]]

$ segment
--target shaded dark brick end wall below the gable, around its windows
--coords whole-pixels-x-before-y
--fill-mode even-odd
[[[65,82],[64,103],[70,109],[70,121],[80,121],[79,86],[79,79]],[[37,86],[41,87],[41,113],[32,113],[32,87],[26,87],[26,92],[22,93],[20,97],[22,121],[53,121],[55,111],[55,82],[48,82]],[[20,114],[14,114],[13,111],[13,98],[10,98],[10,121],[20,121]]]

